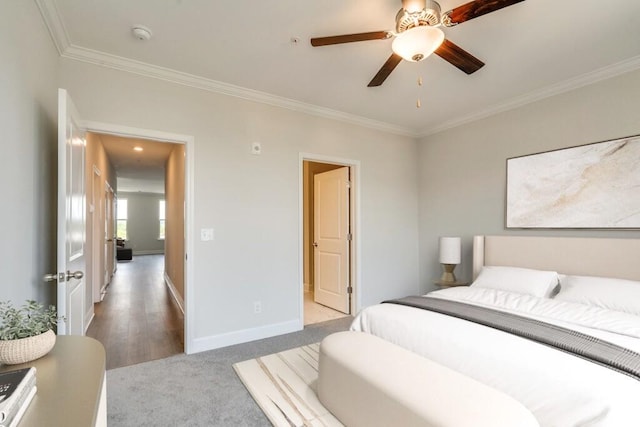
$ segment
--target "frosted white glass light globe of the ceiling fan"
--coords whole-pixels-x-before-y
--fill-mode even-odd
[[[431,55],[444,41],[440,28],[421,25],[396,36],[391,49],[396,55],[410,62],[418,62]]]

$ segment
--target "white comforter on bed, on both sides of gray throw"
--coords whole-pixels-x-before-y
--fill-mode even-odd
[[[429,295],[518,312],[640,352],[638,316],[477,287]],[[351,329],[502,390],[529,408],[541,426],[640,426],[640,381],[545,345],[396,304],[364,309]]]

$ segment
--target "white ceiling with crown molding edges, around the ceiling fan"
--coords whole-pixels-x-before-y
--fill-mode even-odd
[[[309,39],[391,30],[400,0],[36,1],[65,57],[413,136],[640,68],[637,0],[526,0],[445,29],[486,63],[475,74],[432,55],[378,88],[391,40]],[[135,39],[136,24],[153,38]]]

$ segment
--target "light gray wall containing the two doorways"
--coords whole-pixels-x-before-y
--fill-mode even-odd
[[[60,85],[86,120],[193,135],[196,350],[302,326],[301,153],[360,162],[360,306],[418,291],[413,138],[67,59]],[[215,240],[200,241],[202,228]]]

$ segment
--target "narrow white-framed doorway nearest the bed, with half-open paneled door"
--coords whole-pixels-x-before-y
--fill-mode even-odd
[[[356,167],[355,162],[302,157],[304,325],[355,312]]]

